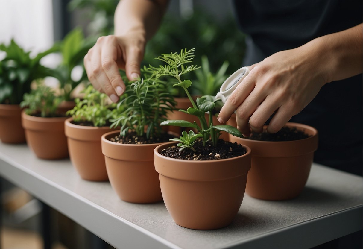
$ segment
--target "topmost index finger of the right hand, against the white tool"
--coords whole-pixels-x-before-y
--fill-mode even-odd
[[[246,78],[234,89],[231,95],[228,97],[227,101],[223,105],[221,111],[218,115],[218,121],[224,123],[234,111],[244,102],[247,96],[252,92],[254,88],[254,77],[252,74],[248,74]]]

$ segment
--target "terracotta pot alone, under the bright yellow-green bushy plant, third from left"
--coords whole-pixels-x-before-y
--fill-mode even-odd
[[[101,136],[110,131],[108,126],[82,126],[71,123],[73,118],[64,122],[68,140],[69,157],[82,179],[89,181],[107,181],[105,157],[101,150]]]

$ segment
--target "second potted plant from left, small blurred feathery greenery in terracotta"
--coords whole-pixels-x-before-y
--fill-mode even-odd
[[[62,97],[55,96],[54,90],[38,85],[30,93],[24,94],[20,107],[26,109],[21,114],[21,123],[29,147],[38,158],[61,159],[68,157],[67,139],[64,135],[64,113],[58,113]]]

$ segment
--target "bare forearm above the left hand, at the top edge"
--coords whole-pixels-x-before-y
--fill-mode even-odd
[[[159,27],[168,0],[121,0],[114,17],[115,35],[139,32],[149,40]]]

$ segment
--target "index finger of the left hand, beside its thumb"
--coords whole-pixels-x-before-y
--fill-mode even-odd
[[[101,65],[114,91],[120,96],[126,87],[116,63],[117,58],[121,57],[121,49],[117,51],[117,42],[114,36],[107,36],[106,38],[105,45],[101,49]]]

